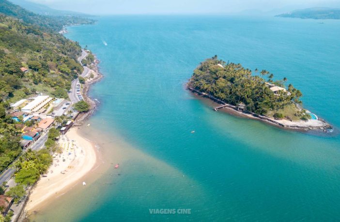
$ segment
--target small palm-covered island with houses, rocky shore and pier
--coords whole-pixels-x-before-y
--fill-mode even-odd
[[[218,109],[263,120],[296,130],[327,132],[331,125],[302,107],[302,93],[287,78],[273,80],[266,70],[255,74],[241,64],[226,63],[217,56],[206,59],[194,70],[187,89],[220,104]],[[266,79],[264,79],[266,78]]]

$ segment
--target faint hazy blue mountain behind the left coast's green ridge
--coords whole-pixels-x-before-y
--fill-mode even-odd
[[[12,3],[19,5],[20,7],[27,9],[33,13],[39,15],[55,15],[55,16],[88,16],[84,13],[63,11],[52,9],[46,5],[34,3],[27,0],[10,0]]]

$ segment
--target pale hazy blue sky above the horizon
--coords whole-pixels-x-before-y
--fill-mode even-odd
[[[30,0],[51,8],[91,14],[214,14],[243,11],[286,12],[340,7],[340,0]]]

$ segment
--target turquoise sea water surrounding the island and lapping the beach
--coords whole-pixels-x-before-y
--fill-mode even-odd
[[[340,21],[110,16],[69,31],[105,75],[91,90],[100,101],[91,127],[133,148],[120,175],[97,179],[81,201],[56,203],[37,219],[55,221],[59,212],[84,222],[339,220]],[[287,77],[335,132],[284,131],[213,111],[185,82],[214,55]]]

